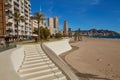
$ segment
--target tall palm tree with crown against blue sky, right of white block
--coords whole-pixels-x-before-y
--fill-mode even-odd
[[[40,40],[40,23],[45,20],[45,16],[42,12],[36,12],[34,15],[34,19],[38,22],[38,41]]]

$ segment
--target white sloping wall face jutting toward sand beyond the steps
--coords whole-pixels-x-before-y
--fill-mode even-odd
[[[49,42],[44,44],[45,46],[50,48],[53,52],[55,52],[57,55],[60,55],[61,53],[64,53],[72,49],[72,47],[69,44],[69,39],[63,39],[61,41]]]

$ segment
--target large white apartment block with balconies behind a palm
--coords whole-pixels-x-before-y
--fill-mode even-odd
[[[31,4],[30,0],[6,0],[6,30],[7,34],[16,35],[17,34],[17,26],[16,21],[14,19],[10,19],[12,14],[15,12],[19,12],[22,16],[25,17],[26,22],[20,22],[18,29],[20,36],[31,36],[32,28],[30,23],[30,13],[31,13]]]

